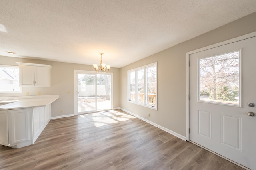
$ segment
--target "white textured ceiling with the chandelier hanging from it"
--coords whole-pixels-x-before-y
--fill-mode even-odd
[[[255,11],[256,0],[0,0],[0,55],[90,65],[102,52],[120,68]]]

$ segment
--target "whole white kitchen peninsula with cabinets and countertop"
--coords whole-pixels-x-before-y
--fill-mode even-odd
[[[59,95],[0,97],[0,144],[21,148],[34,144],[51,119]]]

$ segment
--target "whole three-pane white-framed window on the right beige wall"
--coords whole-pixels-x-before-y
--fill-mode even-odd
[[[157,63],[128,72],[128,101],[157,108]]]

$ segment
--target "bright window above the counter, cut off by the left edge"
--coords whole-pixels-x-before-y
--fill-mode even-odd
[[[19,67],[0,65],[0,93],[22,92],[19,72]]]

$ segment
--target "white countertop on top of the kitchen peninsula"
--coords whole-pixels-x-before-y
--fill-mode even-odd
[[[8,103],[0,105],[1,110],[21,109],[26,107],[47,106],[56,101],[59,95],[38,95],[38,96],[19,96],[19,97],[0,97],[0,103]],[[12,102],[12,103],[9,103]]]

